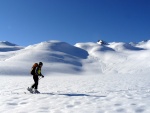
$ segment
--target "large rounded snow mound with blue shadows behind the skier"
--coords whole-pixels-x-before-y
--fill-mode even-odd
[[[80,48],[60,41],[47,41],[28,46],[17,51],[2,62],[0,67],[5,74],[29,74],[35,62],[43,62],[44,73],[75,73],[82,71],[82,59],[88,53]],[[10,66],[11,64],[11,66]],[[7,71],[5,67],[7,66]],[[12,69],[13,67],[13,69]],[[19,69],[18,69],[19,67]]]

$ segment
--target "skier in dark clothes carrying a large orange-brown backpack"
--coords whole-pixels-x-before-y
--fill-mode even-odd
[[[28,87],[28,91],[30,91],[31,93],[40,93],[37,89],[38,89],[39,76],[42,76],[42,78],[44,77],[41,73],[42,66],[43,66],[42,62],[39,62],[39,64],[35,63],[31,69],[31,74],[33,75],[33,80],[34,80],[34,84],[30,88]]]

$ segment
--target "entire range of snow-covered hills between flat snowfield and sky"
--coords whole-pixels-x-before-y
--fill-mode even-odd
[[[106,43],[106,42],[105,42]],[[51,73],[150,73],[150,41],[139,43],[77,43],[46,41],[21,47],[0,42],[3,75],[27,75],[34,62],[44,63],[43,72]]]

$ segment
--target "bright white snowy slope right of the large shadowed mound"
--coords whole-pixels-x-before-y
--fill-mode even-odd
[[[147,43],[146,45],[148,47]],[[150,50],[144,48],[144,45],[132,46],[122,42],[113,42],[108,45],[77,43],[75,46],[88,51],[89,58],[85,62],[85,70],[91,73],[93,71],[119,74],[150,73]]]

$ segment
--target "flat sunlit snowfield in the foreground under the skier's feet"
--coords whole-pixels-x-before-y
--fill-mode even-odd
[[[149,75],[1,76],[0,113],[150,113]],[[24,93],[26,92],[26,94]]]

